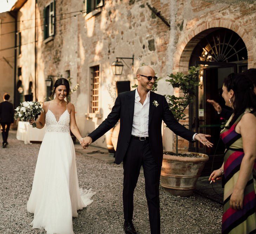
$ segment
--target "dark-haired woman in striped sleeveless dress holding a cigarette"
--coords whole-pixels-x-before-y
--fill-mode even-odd
[[[224,79],[222,97],[234,113],[221,131],[226,146],[221,168],[210,175],[216,181],[224,174],[222,233],[256,233],[256,95],[244,75]]]

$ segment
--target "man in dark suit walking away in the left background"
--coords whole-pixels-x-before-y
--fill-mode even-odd
[[[0,124],[2,129],[3,148],[8,145],[8,133],[11,123],[14,122],[14,108],[11,102],[8,102],[10,95],[4,94],[4,101],[0,103]]]

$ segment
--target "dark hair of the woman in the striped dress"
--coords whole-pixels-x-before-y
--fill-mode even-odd
[[[234,91],[235,100],[233,103],[234,117],[230,121],[230,128],[245,109],[252,108],[256,111],[256,95],[252,81],[243,73],[231,73],[224,79],[223,85],[228,91]]]

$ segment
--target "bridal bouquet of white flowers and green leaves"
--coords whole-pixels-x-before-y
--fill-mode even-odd
[[[17,120],[20,118],[21,121],[29,121],[30,119],[34,119],[41,111],[42,107],[40,102],[25,101],[20,103],[20,106],[15,109],[14,119]],[[33,123],[32,127],[34,128],[36,126],[37,125]]]

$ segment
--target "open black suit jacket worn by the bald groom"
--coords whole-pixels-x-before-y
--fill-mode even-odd
[[[153,105],[153,101],[158,102],[158,107]],[[92,141],[96,141],[107,131],[109,131],[120,119],[120,132],[117,141],[117,151],[115,162],[120,164],[125,156],[130,143],[134,113],[135,90],[120,93],[107,118],[88,136]],[[158,165],[162,165],[163,160],[163,141],[161,126],[162,120],[175,134],[182,138],[192,141],[194,132],[180,125],[173,117],[168,103],[163,95],[150,92],[149,105],[149,142],[151,152]],[[171,143],[171,142],[170,142]]]

